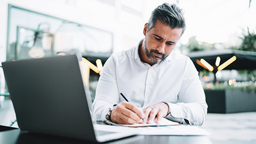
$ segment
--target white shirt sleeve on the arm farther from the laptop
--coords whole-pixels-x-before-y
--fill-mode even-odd
[[[169,103],[171,113],[166,118],[179,123],[187,119],[191,125],[202,125],[206,119],[207,104],[198,71],[190,59],[187,61],[178,99],[179,103]]]

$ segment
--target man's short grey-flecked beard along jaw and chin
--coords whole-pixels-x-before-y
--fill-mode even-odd
[[[148,59],[151,61],[151,62],[154,62],[154,63],[161,63],[165,60],[165,58],[168,56],[168,55],[165,55],[164,53],[161,53],[161,52],[158,52],[157,50],[148,50],[148,47],[146,45],[146,37],[143,39],[143,47],[144,47],[144,50],[145,50],[145,53],[148,57]],[[153,52],[155,52],[156,54],[159,54],[159,55],[162,55],[161,58],[157,58]]]

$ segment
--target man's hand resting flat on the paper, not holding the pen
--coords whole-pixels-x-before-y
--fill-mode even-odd
[[[156,123],[161,121],[162,117],[165,117],[168,113],[169,107],[164,102],[156,103],[155,105],[148,106],[143,109],[145,114],[145,120],[143,123],[154,123],[156,118]]]

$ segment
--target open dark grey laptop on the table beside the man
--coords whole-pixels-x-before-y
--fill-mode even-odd
[[[21,130],[105,142],[137,134],[101,130],[91,116],[91,96],[76,55],[2,63]]]

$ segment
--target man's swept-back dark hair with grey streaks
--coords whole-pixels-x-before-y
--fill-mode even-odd
[[[183,11],[176,4],[164,3],[157,6],[156,9],[151,13],[151,16],[148,20],[147,32],[155,26],[157,20],[162,21],[172,29],[182,28],[181,35],[186,29]]]

